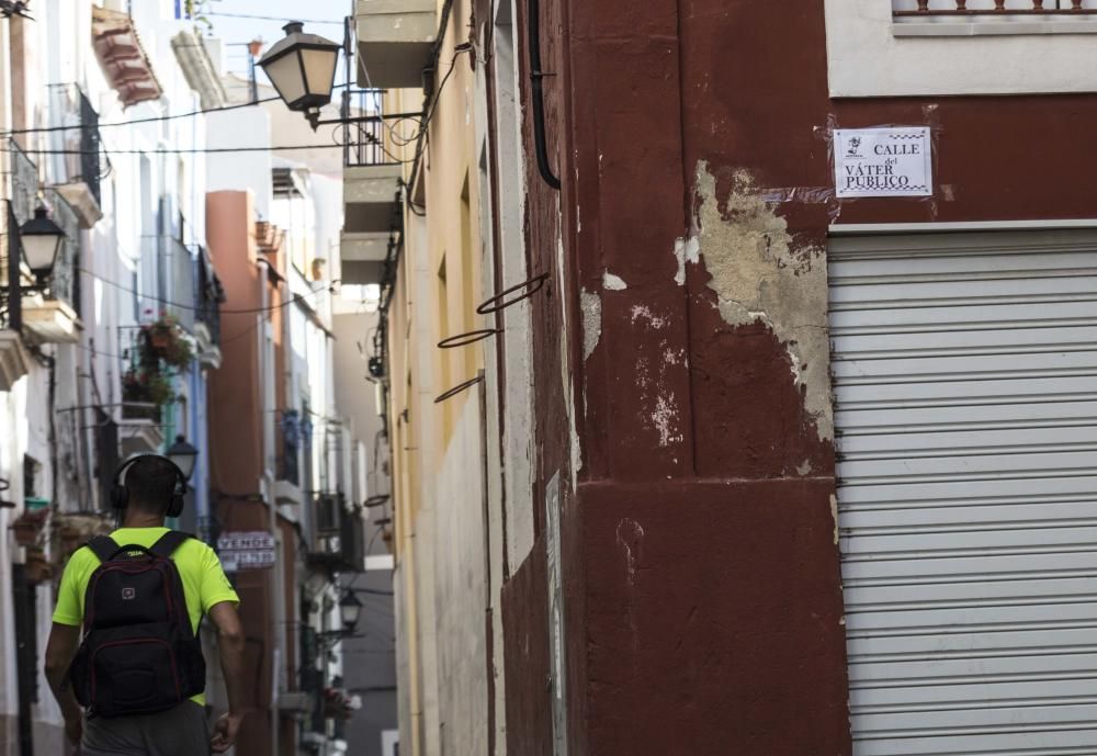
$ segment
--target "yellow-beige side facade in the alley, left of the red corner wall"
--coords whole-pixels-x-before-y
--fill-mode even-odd
[[[426,217],[405,215],[389,315],[395,545],[400,568],[402,751],[414,756],[486,753],[488,661],[482,388],[434,398],[484,369],[485,341],[441,350],[442,339],[485,327],[476,306],[483,239],[478,155],[471,125],[475,74],[472,3],[456,0],[437,81],[450,74],[429,127],[419,180]],[[418,90],[391,92],[388,112],[421,108]],[[411,147],[406,150],[412,157]],[[410,166],[407,171],[410,181]],[[419,192],[416,191],[418,194]]]

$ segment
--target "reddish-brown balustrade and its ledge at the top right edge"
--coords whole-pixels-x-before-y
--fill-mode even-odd
[[[893,0],[892,16],[897,36],[1097,31],[1094,0]]]

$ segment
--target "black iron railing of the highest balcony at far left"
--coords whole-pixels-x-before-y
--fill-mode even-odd
[[[78,84],[49,87],[49,122],[55,128],[64,127],[49,132],[49,149],[53,151],[46,161],[49,183],[83,182],[95,202],[101,204],[99,113]]]

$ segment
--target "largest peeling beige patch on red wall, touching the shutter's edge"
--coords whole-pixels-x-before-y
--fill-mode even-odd
[[[676,244],[676,281],[685,281],[686,262],[702,258],[721,317],[732,326],[761,323],[777,336],[789,350],[793,381],[819,440],[830,441],[826,250],[796,244],[788,223],[773,212],[749,172],[735,171],[731,184],[726,208],[721,211],[716,179],[708,162],[698,162],[700,238]]]

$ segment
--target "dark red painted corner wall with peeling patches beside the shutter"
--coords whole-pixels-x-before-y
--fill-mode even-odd
[[[832,120],[931,124],[947,188],[937,202],[780,202],[794,246],[825,248],[835,213],[840,223],[1092,217],[1097,98],[834,102],[818,0],[542,0],[541,10],[550,163],[564,187],[538,176],[521,40],[527,242],[531,272],[555,271],[559,234],[565,270],[533,301],[535,501],[555,472],[570,476],[570,390],[581,452],[563,504],[570,753],[848,754],[833,445],[790,381],[785,345],[761,324],[725,323],[704,267],[674,281],[676,239],[701,202],[698,165],[730,221],[735,171],[760,188],[833,185],[819,138]],[[627,289],[604,290],[606,271]],[[587,360],[583,292],[601,307]],[[637,307],[661,325],[643,327]],[[661,397],[672,397],[663,428],[653,417],[665,407],[641,391],[637,365],[659,365]],[[789,473],[804,461],[810,473]],[[530,577],[543,574],[543,544],[505,593],[514,753],[546,753],[530,743],[551,738],[551,722],[530,713],[544,704],[540,675],[517,674],[523,661],[546,664],[529,644],[547,635],[527,627],[545,616]]]

